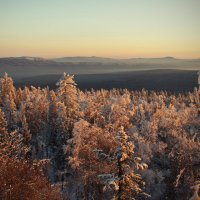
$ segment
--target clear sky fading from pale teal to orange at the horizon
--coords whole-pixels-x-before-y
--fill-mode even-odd
[[[200,0],[0,0],[0,57],[200,58]]]

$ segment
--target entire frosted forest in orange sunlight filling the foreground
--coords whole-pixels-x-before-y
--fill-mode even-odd
[[[200,90],[16,89],[0,78],[0,199],[199,200]]]

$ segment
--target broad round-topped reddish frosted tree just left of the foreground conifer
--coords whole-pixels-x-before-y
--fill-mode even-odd
[[[70,155],[69,164],[71,166],[71,176],[68,179],[73,188],[71,190],[76,191],[73,196],[77,199],[105,199],[104,185],[98,175],[109,174],[116,167],[111,160],[110,162],[104,162],[105,159],[102,161],[102,154],[99,159],[96,153],[98,149],[102,149],[105,152],[104,155],[113,155],[116,149],[114,136],[83,119],[76,122],[73,137],[69,140],[66,150]]]

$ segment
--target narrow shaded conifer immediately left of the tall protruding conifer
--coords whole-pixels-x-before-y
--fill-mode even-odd
[[[69,138],[67,116],[65,113],[66,106],[61,103],[54,91],[49,94],[49,144],[48,144],[48,157],[52,161],[52,179],[60,181],[58,174],[66,167],[66,155],[64,146]]]

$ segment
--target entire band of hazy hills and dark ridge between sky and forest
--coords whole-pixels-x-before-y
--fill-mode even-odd
[[[0,73],[13,77],[16,86],[55,88],[67,72],[75,75],[80,89],[127,88],[139,90],[191,91],[197,86],[200,59],[64,57],[0,58]]]

